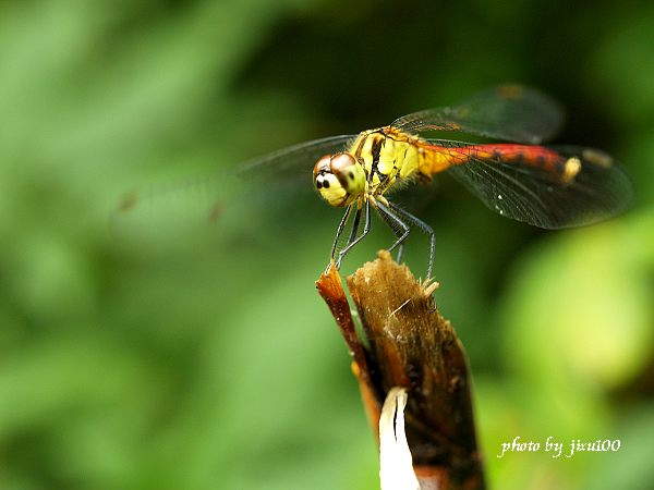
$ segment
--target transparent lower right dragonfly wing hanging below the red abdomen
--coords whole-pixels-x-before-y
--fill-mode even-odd
[[[495,212],[545,229],[591,224],[622,212],[632,201],[632,186],[608,155],[582,147],[548,147],[561,164],[579,159],[569,182],[524,162],[470,157],[447,172]]]

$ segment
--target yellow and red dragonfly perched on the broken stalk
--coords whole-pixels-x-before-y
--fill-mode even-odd
[[[428,183],[435,174],[451,174],[491,210],[543,229],[595,223],[629,207],[630,180],[609,155],[583,146],[543,144],[556,135],[562,120],[559,105],[548,96],[502,85],[460,105],[414,112],[358,135],[329,136],[271,152],[243,164],[239,174],[247,180],[305,172],[308,179],[315,162],[314,189],[328,205],[344,208],[330,266],[340,268],[368,234],[374,210],[395,235],[388,249],[398,250],[398,261],[412,229],[428,236],[428,279],[436,234],[390,196],[411,184]],[[433,132],[493,143],[428,137]],[[130,199],[125,209],[134,204]]]

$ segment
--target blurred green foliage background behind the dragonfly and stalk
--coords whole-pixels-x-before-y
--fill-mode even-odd
[[[505,82],[559,99],[558,140],[617,156],[638,201],[543,232],[446,176],[420,211],[488,480],[654,488],[653,32],[645,2],[1,2],[0,488],[378,488],[314,289],[340,212],[259,185],[205,230],[110,216],[132,188],[225,188],[256,155]],[[389,243],[375,224],[344,273]],[[621,449],[496,457],[518,436]]]

